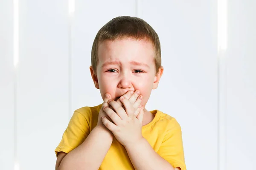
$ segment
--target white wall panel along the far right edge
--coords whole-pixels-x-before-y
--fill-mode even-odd
[[[227,170],[256,162],[256,1],[228,1]]]

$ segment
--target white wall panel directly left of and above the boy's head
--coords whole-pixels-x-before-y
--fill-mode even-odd
[[[90,76],[93,40],[99,29],[114,17],[134,16],[135,6],[135,0],[76,0],[72,42],[72,111],[102,102]]]

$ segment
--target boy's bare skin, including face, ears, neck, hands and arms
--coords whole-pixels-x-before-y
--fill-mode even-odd
[[[145,105],[163,74],[163,67],[156,74],[151,42],[105,40],[99,45],[98,57],[96,71],[90,66],[94,85],[104,100],[98,124],[79,147],[68,154],[59,153],[56,170],[99,169],[113,136],[125,146],[136,170],[180,170],[159,156],[141,134],[142,126],[154,119]],[[95,154],[98,156],[91,156]]]

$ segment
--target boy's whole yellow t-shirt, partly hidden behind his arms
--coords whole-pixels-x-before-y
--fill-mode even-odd
[[[55,149],[56,155],[58,155],[58,152],[69,153],[84,142],[97,125],[101,106],[102,104],[95,107],[83,107],[74,112],[60,144]],[[161,111],[154,110],[150,112],[155,117],[150,123],[142,127],[143,137],[173,167],[186,170],[179,123],[176,119]],[[115,138],[99,170],[134,170],[125,147]]]

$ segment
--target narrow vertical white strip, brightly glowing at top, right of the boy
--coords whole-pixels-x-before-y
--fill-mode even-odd
[[[218,12],[218,170],[227,163],[227,0],[217,0]]]

